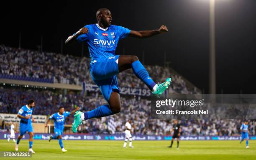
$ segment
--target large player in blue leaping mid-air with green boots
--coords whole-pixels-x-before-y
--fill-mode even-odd
[[[129,37],[148,38],[160,33],[168,32],[165,25],[156,30],[129,30],[118,25],[111,25],[112,15],[107,8],[101,8],[96,13],[97,23],[85,25],[77,33],[67,38],[65,44],[87,42],[90,51],[90,73],[92,80],[100,87],[107,105],[102,105],[89,112],[76,112],[72,130],[77,132],[77,127],[83,120],[94,117],[105,117],[120,112],[120,89],[117,74],[127,69],[132,69],[134,74],[141,79],[151,90],[152,94],[159,97],[170,85],[171,78],[162,84],[156,84],[138,60],[137,56],[115,55],[115,48],[120,39]]]

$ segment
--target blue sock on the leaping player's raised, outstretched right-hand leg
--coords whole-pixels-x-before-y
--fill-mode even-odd
[[[134,74],[139,79],[141,79],[148,86],[148,88],[152,91],[152,89],[156,85],[156,83],[148,75],[147,70],[144,68],[144,66],[141,64],[141,62],[134,61],[132,63],[132,69],[133,69]]]

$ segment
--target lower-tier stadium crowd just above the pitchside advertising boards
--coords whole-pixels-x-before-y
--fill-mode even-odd
[[[0,88],[0,113],[16,114],[18,109],[26,104],[28,99],[36,101],[33,114],[50,115],[58,111],[58,107],[65,107],[66,111],[79,106],[82,112],[99,107],[107,102],[101,94],[94,93],[83,97],[81,94],[70,92],[67,94],[57,93],[50,90],[17,90]],[[132,132],[138,135],[169,135],[173,121],[150,118],[150,101],[140,97],[121,97],[122,108],[119,114],[113,115],[116,125],[116,133],[123,133],[124,124],[128,119],[132,120]],[[108,121],[110,117],[102,117],[87,120],[78,128],[83,133],[108,133]],[[73,116],[66,119],[66,124],[71,124]],[[198,119],[182,120],[182,135],[236,135],[240,133],[241,121]],[[250,130],[252,132],[252,123]]]

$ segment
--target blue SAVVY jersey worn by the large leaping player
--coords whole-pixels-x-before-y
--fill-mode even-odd
[[[100,61],[100,58],[115,56],[115,48],[119,39],[125,38],[131,30],[110,25],[108,28],[101,28],[98,24],[85,25],[89,32],[77,37],[78,42],[86,41],[89,46],[91,63]]]

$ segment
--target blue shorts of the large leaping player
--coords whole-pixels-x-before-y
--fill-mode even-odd
[[[119,56],[100,58],[90,65],[92,80],[100,87],[100,91],[107,101],[113,91],[120,94],[117,81]]]

